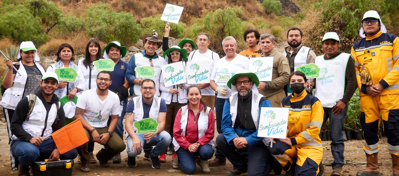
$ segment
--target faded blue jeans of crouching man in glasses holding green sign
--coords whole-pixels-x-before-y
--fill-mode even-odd
[[[151,156],[155,157],[155,156],[159,156],[162,153],[164,153],[165,149],[167,149],[169,147],[170,141],[172,140],[172,138],[170,137],[170,134],[166,131],[161,131],[160,133],[156,134],[149,143],[146,143],[144,141],[144,135],[146,133],[142,133],[142,134],[136,134],[138,139],[140,139],[141,143],[143,144],[143,147],[151,147],[151,146],[155,146],[155,148],[151,151]],[[143,147],[140,147],[140,151],[138,153],[136,153],[134,151],[134,148],[132,148],[132,143],[133,143],[133,139],[131,136],[128,136],[126,139],[126,143],[127,143],[127,155],[129,157],[134,157],[137,156],[141,153],[141,151],[143,150]]]

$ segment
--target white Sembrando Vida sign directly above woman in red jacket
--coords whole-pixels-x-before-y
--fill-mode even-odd
[[[187,62],[187,84],[209,83],[209,62]]]

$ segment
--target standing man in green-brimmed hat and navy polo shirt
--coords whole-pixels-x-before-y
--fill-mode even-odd
[[[104,58],[109,58],[114,61],[115,66],[114,70],[111,71],[111,76],[113,77],[112,83],[109,86],[109,90],[117,93],[119,96],[120,101],[120,109],[121,113],[119,114],[119,119],[117,123],[117,127],[115,128],[115,133],[123,139],[123,117],[126,114],[126,107],[127,107],[127,98],[128,98],[128,88],[130,87],[130,83],[126,80],[126,68],[128,63],[122,61],[122,57],[126,55],[126,47],[121,46],[119,42],[113,41],[108,43],[106,47],[103,48]],[[107,125],[111,123],[111,118],[109,118]],[[120,158],[120,153],[115,155],[112,158],[112,162],[120,163],[122,159]]]

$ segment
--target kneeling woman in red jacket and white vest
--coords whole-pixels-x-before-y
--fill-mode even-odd
[[[201,89],[196,84],[187,88],[188,105],[180,108],[173,126],[173,145],[177,157],[172,166],[186,174],[196,171],[196,162],[203,173],[210,173],[206,160],[213,156],[215,116],[201,100]],[[179,123],[180,122],[180,123]]]

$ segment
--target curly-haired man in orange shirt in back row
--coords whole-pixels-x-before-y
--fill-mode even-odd
[[[258,48],[259,38],[261,37],[259,31],[256,29],[247,29],[244,31],[243,37],[249,49],[241,51],[239,54],[248,57],[248,59],[259,57],[262,53],[262,50]]]

